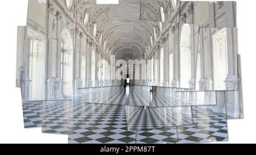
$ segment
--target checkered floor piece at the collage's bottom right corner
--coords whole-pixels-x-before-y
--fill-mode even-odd
[[[208,107],[192,107],[193,124],[177,127],[178,144],[228,140],[226,114],[212,112]]]

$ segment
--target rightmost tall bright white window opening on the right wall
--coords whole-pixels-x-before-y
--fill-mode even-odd
[[[226,28],[222,28],[222,30],[213,35],[214,90],[226,89],[224,81],[228,75],[227,45]],[[223,69],[223,66],[226,66],[226,68]]]

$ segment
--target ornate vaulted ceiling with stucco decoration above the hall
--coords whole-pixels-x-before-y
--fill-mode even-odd
[[[162,21],[160,7],[166,8],[170,0],[119,0],[119,5],[96,5],[93,0],[78,0],[80,13],[89,16],[86,26],[93,33],[97,23],[97,40],[104,44],[112,55],[131,49],[144,56]],[[102,34],[102,39],[100,39]]]

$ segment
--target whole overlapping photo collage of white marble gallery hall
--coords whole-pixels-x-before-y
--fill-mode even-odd
[[[28,0],[24,128],[68,144],[228,141],[243,118],[236,2]]]

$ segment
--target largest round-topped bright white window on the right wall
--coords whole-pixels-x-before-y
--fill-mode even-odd
[[[183,24],[180,37],[180,87],[188,88],[191,78],[191,28]]]

